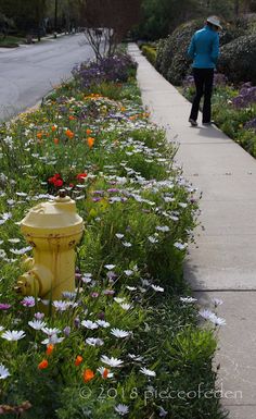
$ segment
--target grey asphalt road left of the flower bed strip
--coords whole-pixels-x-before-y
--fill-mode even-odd
[[[76,63],[92,57],[82,34],[0,48],[0,121],[36,104],[54,85],[71,77]]]

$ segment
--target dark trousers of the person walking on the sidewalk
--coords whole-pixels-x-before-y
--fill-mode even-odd
[[[204,96],[203,123],[210,122],[210,98],[214,84],[214,69],[193,69],[196,94],[193,100],[190,118],[197,120],[200,101]]]

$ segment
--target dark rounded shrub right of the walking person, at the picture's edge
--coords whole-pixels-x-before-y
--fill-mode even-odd
[[[256,84],[256,35],[245,35],[225,45],[218,69],[232,83]]]

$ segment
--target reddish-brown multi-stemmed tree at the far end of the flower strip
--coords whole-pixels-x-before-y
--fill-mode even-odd
[[[97,59],[113,56],[117,45],[140,19],[141,0],[87,0],[81,25]]]

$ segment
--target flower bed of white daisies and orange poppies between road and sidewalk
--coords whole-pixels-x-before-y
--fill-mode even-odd
[[[212,367],[221,301],[199,313],[182,278],[195,190],[124,60],[125,81],[117,72],[85,84],[91,64],[82,65],[38,111],[1,126],[0,415],[223,418]],[[63,187],[86,224],[76,292],[18,296],[31,254],[20,221]]]

